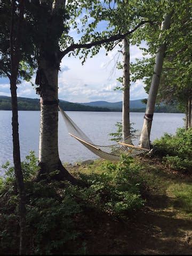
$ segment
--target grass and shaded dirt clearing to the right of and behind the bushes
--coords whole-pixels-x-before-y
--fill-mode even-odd
[[[87,250],[106,254],[191,254],[191,176],[167,169],[159,158],[134,161],[142,166],[139,179],[144,206],[124,221],[107,217],[100,227],[92,224]],[[89,166],[73,166],[71,171],[100,173],[102,165],[98,160]]]

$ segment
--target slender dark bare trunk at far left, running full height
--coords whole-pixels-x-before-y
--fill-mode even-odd
[[[17,181],[17,190],[19,194],[19,218],[20,218],[20,246],[19,253],[26,253],[26,196],[21,170],[20,145],[19,145],[19,123],[18,123],[18,102],[17,102],[17,77],[19,70],[19,61],[21,57],[21,33],[24,13],[24,1],[19,1],[19,20],[15,28],[16,1],[12,0],[12,18],[10,29],[10,50],[11,50],[11,77],[10,90],[12,100],[12,135],[13,135],[13,162],[15,178]]]

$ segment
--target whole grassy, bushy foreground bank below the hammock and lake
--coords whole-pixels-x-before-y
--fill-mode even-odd
[[[89,184],[34,183],[36,159],[25,163],[28,253],[190,254],[191,191],[188,174],[159,158],[122,158],[68,165]],[[1,252],[17,254],[19,222],[13,170],[1,180]]]

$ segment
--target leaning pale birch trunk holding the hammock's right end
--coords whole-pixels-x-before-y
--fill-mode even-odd
[[[165,15],[164,21],[162,22],[161,30],[163,31],[163,30],[169,29],[170,23],[171,23],[171,14],[167,14]],[[160,34],[159,38],[161,37],[162,35]],[[147,127],[148,135],[150,138],[150,131],[151,131],[151,125],[152,125],[153,115],[155,110],[157,91],[158,91],[161,73],[163,69],[163,59],[165,54],[165,48],[166,48],[166,45],[165,43],[163,43],[159,47],[156,53],[154,75],[152,77],[152,81],[150,85],[149,96],[148,96],[147,106],[146,106],[146,113],[144,116],[144,122],[143,122],[142,131],[141,131],[141,137],[140,137],[141,147],[143,146],[143,142],[145,139],[146,127]]]

